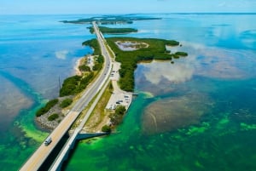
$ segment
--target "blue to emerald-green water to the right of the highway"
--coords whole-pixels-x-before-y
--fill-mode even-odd
[[[256,169],[255,15],[160,16],[132,36],[176,39],[189,56],[139,64],[118,133],[80,142],[65,170]]]

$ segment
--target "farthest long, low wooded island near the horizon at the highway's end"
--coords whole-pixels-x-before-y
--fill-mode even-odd
[[[96,21],[97,24],[116,25],[116,24],[132,24],[133,20],[161,20],[161,18],[138,17],[138,16],[131,16],[131,15],[103,15],[99,17],[90,17],[87,19],[79,19],[79,20],[61,20],[61,22],[73,23],[73,24],[91,24],[92,21]]]

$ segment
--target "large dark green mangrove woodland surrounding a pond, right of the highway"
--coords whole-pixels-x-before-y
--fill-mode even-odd
[[[168,53],[166,45],[179,45],[179,43],[174,40],[154,38],[110,37],[107,38],[107,41],[116,55],[116,61],[121,63],[121,69],[119,70],[119,86],[125,91],[133,91],[133,73],[138,62],[144,60],[172,60],[173,54]],[[134,51],[123,51],[116,45],[117,41],[147,43],[149,46],[148,48],[140,48]]]

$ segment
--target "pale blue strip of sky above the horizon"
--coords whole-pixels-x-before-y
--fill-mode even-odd
[[[0,14],[256,13],[255,0],[0,0]]]

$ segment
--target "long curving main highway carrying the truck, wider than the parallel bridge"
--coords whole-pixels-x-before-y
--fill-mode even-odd
[[[95,97],[95,95],[101,90],[104,83],[108,81],[109,74],[111,72],[112,61],[111,57],[108,54],[108,49],[105,46],[104,38],[102,33],[99,31],[96,26],[96,22],[93,22],[93,26],[95,28],[97,40],[102,49],[102,56],[105,59],[104,66],[99,76],[96,78],[96,81],[91,83],[90,86],[84,91],[84,94],[81,98],[73,105],[73,108],[67,113],[67,116],[61,121],[55,130],[49,134],[52,142],[49,145],[40,145],[32,156],[26,161],[26,163],[20,168],[20,171],[32,171],[38,170],[41,165],[44,163],[46,158],[49,156],[51,151],[55,148],[58,142],[61,140],[64,134],[67,133],[69,128],[72,126],[74,121],[79,117],[81,111],[84,110],[89,102]]]

